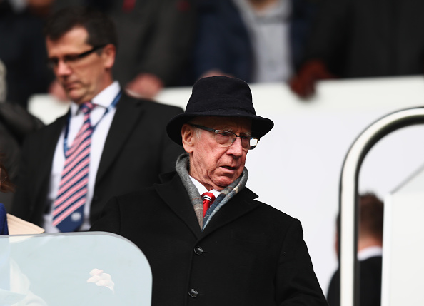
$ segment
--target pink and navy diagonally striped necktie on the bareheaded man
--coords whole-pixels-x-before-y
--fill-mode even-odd
[[[84,220],[84,204],[89,183],[90,144],[93,127],[90,112],[94,104],[81,105],[84,123],[76,134],[72,146],[65,153],[64,170],[59,191],[53,206],[53,225],[61,232],[78,230]]]

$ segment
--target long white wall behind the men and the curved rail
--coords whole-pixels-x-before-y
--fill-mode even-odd
[[[256,113],[271,118],[275,127],[248,153],[247,185],[259,200],[301,220],[326,293],[337,267],[335,217],[345,154],[373,121],[392,111],[423,106],[424,78],[323,81],[309,101],[297,98],[281,83],[252,84],[251,89]],[[190,94],[191,88],[169,88],[157,101],[184,108]],[[29,108],[44,116],[52,108],[47,103],[36,106],[41,106],[36,98],[43,100],[35,97]],[[413,126],[379,141],[363,162],[360,191],[374,191],[384,198],[399,185],[423,163],[424,142],[416,141],[423,136],[424,127]]]

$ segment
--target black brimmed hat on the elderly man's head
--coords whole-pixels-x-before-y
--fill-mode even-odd
[[[194,86],[186,111],[166,126],[168,136],[182,146],[181,128],[197,116],[243,117],[252,121],[252,136],[261,138],[271,131],[273,121],[256,115],[251,88],[245,81],[227,76],[201,78]]]

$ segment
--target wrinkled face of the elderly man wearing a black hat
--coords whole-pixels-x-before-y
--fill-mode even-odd
[[[239,136],[251,135],[251,121],[247,118],[198,117],[191,123],[216,130],[230,131]],[[248,148],[241,139],[230,146],[216,141],[216,135],[188,124],[182,128],[183,146],[190,154],[190,175],[208,190],[223,190],[243,173]]]

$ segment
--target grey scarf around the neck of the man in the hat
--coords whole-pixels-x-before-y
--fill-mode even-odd
[[[213,215],[215,215],[223,205],[225,205],[231,198],[233,198],[234,195],[244,188],[248,179],[248,170],[245,167],[239,178],[234,180],[233,183],[228,185],[225,189],[221,190],[221,193],[213,201],[211,208],[208,209],[208,213],[206,213],[205,218],[203,218],[203,201],[201,195],[198,193],[198,189],[191,181],[190,175],[188,175],[189,165],[188,153],[183,153],[178,157],[175,168],[178,175],[180,175],[183,185],[188,192],[188,197],[193,204],[198,224],[201,229],[204,230]]]

